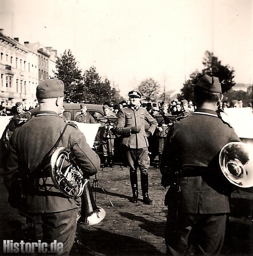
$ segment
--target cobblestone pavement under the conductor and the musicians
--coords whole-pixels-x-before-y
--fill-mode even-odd
[[[164,255],[166,207],[163,199],[166,189],[160,186],[160,171],[153,167],[149,169],[152,205],[143,204],[140,181],[138,203],[129,202],[131,185],[128,168],[123,167],[122,170],[118,165],[112,169],[105,168],[98,172],[97,178],[114,207],[98,185],[96,204],[106,210],[106,217],[97,225],[77,227],[78,242],[74,244],[70,255]],[[92,181],[93,177],[91,185]],[[252,255],[251,193],[251,190],[233,193],[224,255]],[[16,210],[9,207],[3,182],[0,184],[0,202],[1,245],[3,239],[20,241],[25,221]]]

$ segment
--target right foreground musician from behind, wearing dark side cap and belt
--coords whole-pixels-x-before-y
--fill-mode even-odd
[[[195,112],[169,130],[161,159],[161,185],[170,186],[165,205],[168,217],[165,244],[168,255],[219,255],[230,212],[231,187],[221,173],[222,147],[240,139],[216,114],[222,101],[221,84],[204,75],[194,88]]]

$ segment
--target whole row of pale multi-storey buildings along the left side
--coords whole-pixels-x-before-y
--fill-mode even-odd
[[[36,87],[54,77],[57,50],[43,47],[39,42],[19,43],[0,29],[0,105],[9,109],[23,101],[26,109],[36,104]]]

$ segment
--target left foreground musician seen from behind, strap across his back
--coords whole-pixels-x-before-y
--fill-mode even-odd
[[[58,79],[46,79],[38,85],[39,112],[12,134],[4,182],[11,193],[14,176],[18,173],[22,179],[28,176],[26,183],[23,183],[26,200],[19,211],[32,218],[40,216],[43,242],[62,242],[62,255],[69,255],[76,234],[80,202],[63,195],[55,187],[46,168],[41,166],[38,169],[66,126],[58,116],[63,105],[63,92],[64,84]],[[84,175],[91,176],[99,169],[99,157],[78,128],[67,125],[58,146],[72,150]]]

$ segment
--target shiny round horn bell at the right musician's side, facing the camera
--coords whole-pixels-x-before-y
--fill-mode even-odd
[[[242,142],[226,144],[219,154],[219,164],[232,184],[249,188],[253,186],[253,146]]]

